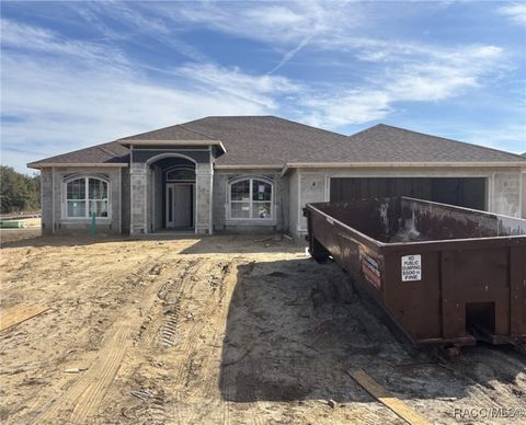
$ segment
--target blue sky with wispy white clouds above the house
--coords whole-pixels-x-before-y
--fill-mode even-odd
[[[207,115],[526,151],[524,2],[1,4],[1,162]]]

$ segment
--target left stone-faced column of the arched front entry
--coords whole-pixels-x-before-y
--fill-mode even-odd
[[[147,233],[147,166],[144,162],[132,162],[129,169],[130,234]]]

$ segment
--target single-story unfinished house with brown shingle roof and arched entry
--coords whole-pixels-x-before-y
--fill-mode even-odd
[[[44,233],[307,231],[302,207],[405,195],[526,217],[526,158],[384,124],[214,116],[35,161]]]

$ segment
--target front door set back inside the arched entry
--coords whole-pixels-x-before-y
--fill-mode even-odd
[[[193,185],[167,184],[167,228],[193,226]]]

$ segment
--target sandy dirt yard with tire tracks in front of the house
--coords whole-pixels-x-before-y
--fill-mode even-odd
[[[2,423],[403,424],[356,367],[432,423],[526,422],[504,416],[526,406],[524,355],[413,349],[286,240],[33,238],[0,254],[2,311],[52,308],[0,333]]]

